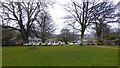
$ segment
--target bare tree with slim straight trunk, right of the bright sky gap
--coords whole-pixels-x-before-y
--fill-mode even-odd
[[[91,6],[89,0],[86,0],[79,4],[78,2],[73,1],[70,6],[65,6],[66,11],[68,11],[71,15],[68,15],[67,19],[69,21],[74,20],[75,22],[79,23],[80,29],[75,28],[81,32],[81,44],[83,44],[83,37],[86,28],[90,25],[90,11]]]

